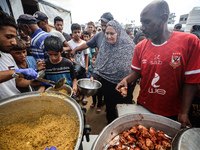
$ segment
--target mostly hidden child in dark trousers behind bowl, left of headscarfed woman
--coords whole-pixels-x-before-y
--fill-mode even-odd
[[[88,74],[89,74],[88,77],[90,77],[90,74],[93,73],[96,58],[97,58],[97,53],[93,53],[93,54],[92,54],[92,64],[88,67]],[[97,101],[97,98],[98,98],[97,110],[96,110],[97,113],[100,113],[100,112],[101,112],[102,97],[103,97],[102,88],[100,88],[100,89],[98,90],[98,92],[97,92],[96,95],[93,95],[93,96],[92,96],[93,103],[91,104],[90,108],[94,108],[94,107],[95,107],[96,101]]]

